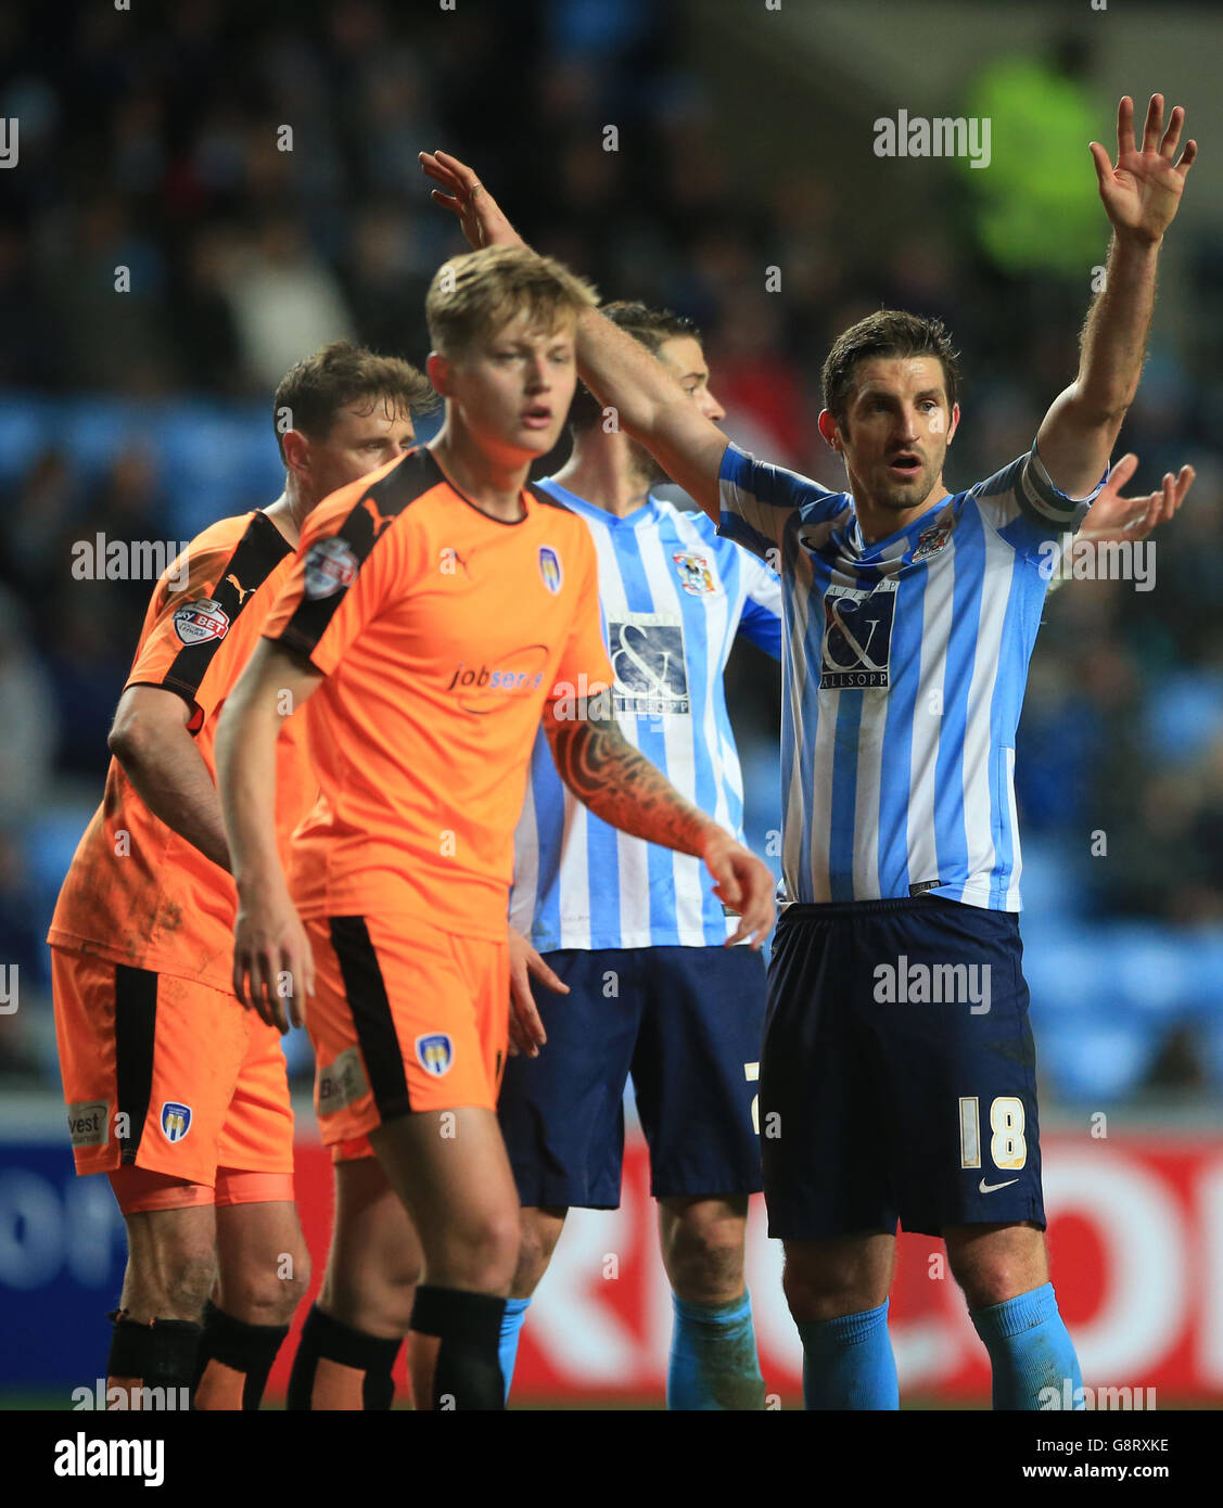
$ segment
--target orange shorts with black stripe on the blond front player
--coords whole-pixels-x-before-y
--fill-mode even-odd
[[[496,1108],[510,1030],[504,941],[416,917],[311,917],[314,1105],[327,1146],[418,1110]],[[342,1158],[363,1149],[345,1146]]]

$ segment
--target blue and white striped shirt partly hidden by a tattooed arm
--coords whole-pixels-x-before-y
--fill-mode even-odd
[[[781,584],[703,513],[650,498],[617,519],[550,478],[599,555],[599,599],[624,737],[742,840],[743,777],[722,674],[736,633],[781,656]],[[629,837],[561,783],[540,730],[514,834],[510,921],[540,952],[710,947],[736,921],[698,858]]]

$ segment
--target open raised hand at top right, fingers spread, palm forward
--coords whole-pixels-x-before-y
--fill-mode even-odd
[[[1185,112],[1178,104],[1164,131],[1164,97],[1152,95],[1139,146],[1134,101],[1125,95],[1117,107],[1116,167],[1099,142],[1090,143],[1099,198],[1119,237],[1130,235],[1154,244],[1172,223],[1181,204],[1185,173],[1197,157],[1197,142],[1190,142],[1179,161],[1176,160],[1184,124]]]

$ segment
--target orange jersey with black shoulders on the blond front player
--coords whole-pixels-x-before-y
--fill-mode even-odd
[[[264,630],[326,677],[303,709],[302,915],[505,938],[544,704],[612,682],[590,529],[532,487],[523,507],[489,517],[416,449],[311,514]]]

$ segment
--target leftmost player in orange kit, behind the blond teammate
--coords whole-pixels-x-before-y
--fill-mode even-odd
[[[106,795],[59,896],[48,941],[63,1090],[77,1172],[109,1175],[127,1223],[107,1371],[131,1407],[175,1407],[198,1383],[198,1408],[258,1408],[306,1289],[285,1059],[231,988],[237,893],[213,740],[308,514],[415,443],[412,409],[433,401],[407,362],[348,342],[285,375],[285,492],[211,525],[158,582]],[[317,793],[300,721],[285,719],[276,765],[270,817],[287,854]]]

